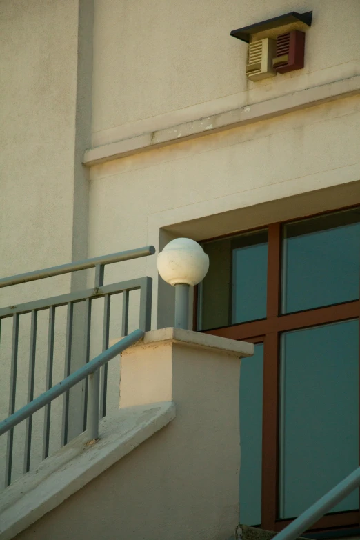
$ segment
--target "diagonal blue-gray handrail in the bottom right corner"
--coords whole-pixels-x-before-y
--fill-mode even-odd
[[[360,467],[355,469],[348,477],[344,478],[330,490],[326,495],[323,495],[319,501],[312,504],[308,510],[294,519],[290,525],[283,529],[273,540],[294,540],[303,532],[308,530],[314,523],[323,517],[328,510],[342,501],[354,489],[360,486]]]

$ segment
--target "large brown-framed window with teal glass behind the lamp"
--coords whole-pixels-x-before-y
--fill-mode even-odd
[[[255,344],[241,362],[240,521],[281,530],[359,466],[360,208],[203,248],[197,329]],[[359,490],[314,524],[354,527]]]

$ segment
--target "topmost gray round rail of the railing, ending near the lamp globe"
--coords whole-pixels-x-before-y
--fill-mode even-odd
[[[84,261],[76,261],[74,263],[61,264],[60,266],[52,266],[51,268],[43,268],[43,270],[34,270],[33,272],[26,272],[25,274],[18,274],[16,276],[3,277],[0,279],[0,288],[17,285],[19,283],[27,283],[28,281],[36,281],[37,279],[46,277],[68,274],[70,272],[78,272],[79,270],[86,270],[87,268],[94,268],[95,266],[129,261],[130,259],[138,259],[139,257],[147,257],[148,255],[153,255],[154,252],[154,246],[146,246],[135,250],[94,257],[93,259],[86,259]]]

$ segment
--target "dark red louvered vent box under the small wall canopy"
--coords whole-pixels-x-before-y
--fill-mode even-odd
[[[304,51],[304,32],[292,30],[292,32],[280,34],[277,37],[277,50],[272,66],[278,73],[300,70],[303,68]]]

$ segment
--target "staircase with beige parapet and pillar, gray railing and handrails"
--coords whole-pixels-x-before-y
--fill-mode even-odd
[[[9,415],[0,423],[0,435],[7,436],[0,540],[295,540],[359,487],[360,468],[279,533],[237,526],[239,369],[240,359],[252,356],[254,346],[181,328],[150,331],[150,279],[104,285],[103,269],[153,252],[148,246],[0,280],[1,287],[96,269],[94,288],[0,310],[0,321],[12,317]],[[140,290],[140,328],[128,332],[132,290]],[[122,335],[110,346],[114,294],[123,294]],[[103,350],[90,360],[92,303],[99,298]],[[83,366],[72,370],[75,303],[85,306]],[[61,306],[67,312],[66,376],[53,386],[54,321]],[[35,397],[37,321],[43,310],[48,310],[46,391]],[[28,403],[15,411],[19,320],[26,314],[31,318]],[[106,366],[112,359],[121,363],[121,378],[119,406],[110,414]],[[70,437],[70,392],[79,384],[83,430]],[[61,435],[61,448],[51,451],[51,406],[58,397],[63,399],[61,422],[54,427]],[[33,426],[40,410],[43,459],[33,465]],[[14,480],[13,457],[19,450],[14,430],[21,423],[25,423],[23,474]]]

